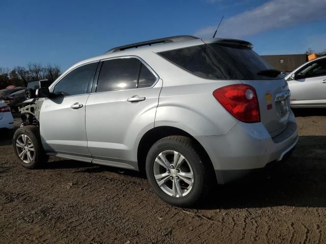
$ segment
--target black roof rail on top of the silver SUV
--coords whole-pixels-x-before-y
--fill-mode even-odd
[[[188,41],[188,40],[194,40],[194,39],[199,39],[198,37],[194,36],[174,36],[174,37],[165,37],[165,38],[159,38],[159,39],[154,39],[150,41],[145,41],[145,42],[137,42],[133,44],[128,44],[120,47],[115,47],[110,50],[108,50],[106,53],[111,53],[111,52],[118,52],[118,51],[123,51],[125,49],[129,48],[138,48],[142,46],[147,46],[147,45],[153,45],[153,44],[158,44],[158,43],[169,43],[169,42],[182,42],[182,41]]]

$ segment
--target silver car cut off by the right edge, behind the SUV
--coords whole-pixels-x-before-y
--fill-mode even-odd
[[[326,107],[326,56],[303,64],[285,79],[291,91],[292,108]]]

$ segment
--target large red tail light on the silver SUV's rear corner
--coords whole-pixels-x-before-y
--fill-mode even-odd
[[[214,90],[214,98],[235,118],[246,123],[260,122],[256,90],[250,85],[227,85]]]

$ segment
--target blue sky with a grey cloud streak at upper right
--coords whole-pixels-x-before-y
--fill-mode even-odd
[[[0,67],[74,63],[174,35],[241,38],[259,54],[326,49],[326,0],[0,2]]]

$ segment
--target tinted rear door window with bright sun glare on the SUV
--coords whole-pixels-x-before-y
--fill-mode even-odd
[[[103,62],[96,92],[137,88],[142,63],[138,58],[115,58]]]

